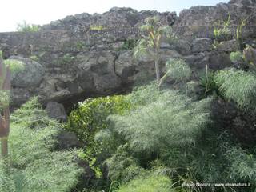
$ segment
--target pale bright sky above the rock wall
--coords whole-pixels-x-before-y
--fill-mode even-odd
[[[71,14],[103,13],[113,6],[178,13],[190,6],[214,6],[218,2],[228,0],[2,0],[0,32],[15,31],[23,21],[42,25]]]

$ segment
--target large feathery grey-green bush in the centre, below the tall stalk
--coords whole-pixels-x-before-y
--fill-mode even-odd
[[[207,104],[209,100],[191,102],[185,95],[169,90],[155,102],[110,119],[134,151],[158,154],[162,149],[194,143],[208,122]]]

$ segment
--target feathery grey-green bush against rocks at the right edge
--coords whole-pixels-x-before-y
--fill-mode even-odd
[[[215,74],[219,92],[243,110],[256,108],[256,76],[242,70],[221,70]]]

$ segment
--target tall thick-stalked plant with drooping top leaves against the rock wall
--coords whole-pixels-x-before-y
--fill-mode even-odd
[[[170,26],[163,25],[158,17],[146,18],[146,24],[140,27],[142,38],[138,40],[134,47],[134,56],[149,55],[154,59],[157,82],[160,77],[160,45],[165,38],[177,38]]]

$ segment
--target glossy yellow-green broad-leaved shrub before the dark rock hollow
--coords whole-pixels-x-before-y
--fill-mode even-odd
[[[123,114],[129,109],[130,103],[122,95],[87,99],[71,112],[66,128],[76,133],[80,140],[86,142],[86,146],[90,146],[94,143],[95,134],[108,127],[106,118],[110,114]]]

